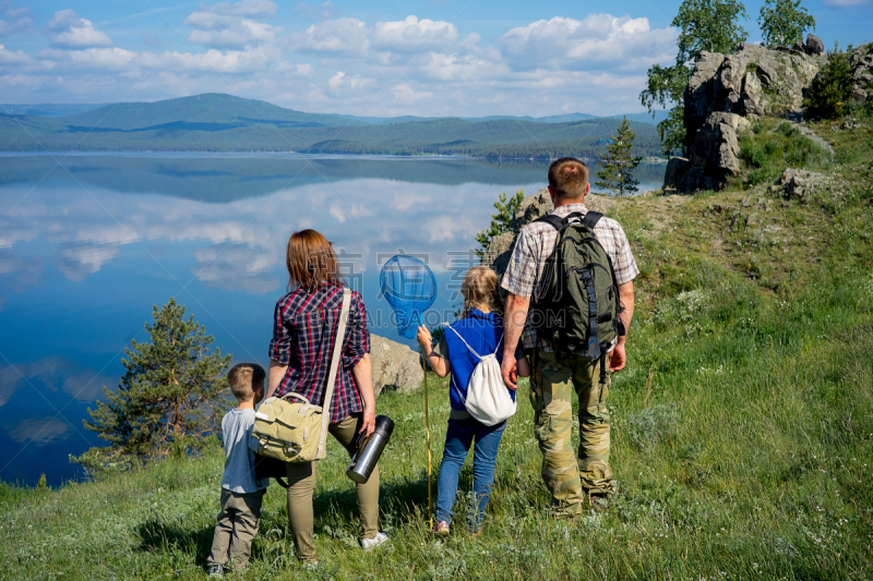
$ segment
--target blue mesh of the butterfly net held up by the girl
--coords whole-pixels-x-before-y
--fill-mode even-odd
[[[418,258],[398,254],[382,267],[379,283],[397,316],[397,330],[412,339],[421,325],[422,314],[436,299],[433,273]]]

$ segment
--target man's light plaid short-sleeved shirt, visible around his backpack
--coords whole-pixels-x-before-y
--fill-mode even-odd
[[[588,214],[588,208],[584,204],[570,204],[555,208],[552,214],[563,218],[574,211],[585,216]],[[612,268],[615,270],[615,280],[619,285],[630,282],[639,274],[636,261],[631,254],[631,244],[619,222],[607,217],[600,218],[594,228],[594,235],[612,259]],[[530,296],[534,288],[540,282],[542,269],[554,250],[557,238],[558,230],[551,225],[533,222],[525,226],[515,242],[515,250],[506,266],[501,287],[517,296]],[[552,350],[545,341],[537,341],[536,331],[527,325],[525,349],[534,349],[535,346],[541,351]]]

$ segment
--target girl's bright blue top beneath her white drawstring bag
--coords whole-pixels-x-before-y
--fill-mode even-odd
[[[478,308],[470,310],[469,314],[454,322],[451,325],[464,341],[479,355],[490,355],[497,351],[497,358],[503,363],[503,319],[494,313],[482,313]],[[467,400],[467,384],[473,375],[473,370],[479,363],[479,359],[474,355],[467,346],[464,344],[457,335],[450,329],[445,329],[445,335],[440,340],[435,351],[446,358],[452,367],[452,379],[449,384],[449,399],[453,410],[466,410],[464,402]],[[500,349],[498,349],[500,347]],[[524,355],[522,342],[515,351],[516,359]],[[515,390],[506,388],[515,401]]]

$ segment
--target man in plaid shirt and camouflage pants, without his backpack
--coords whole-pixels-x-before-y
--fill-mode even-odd
[[[590,187],[588,168],[582,161],[564,157],[549,167],[549,194],[555,216],[587,214],[585,196]],[[634,312],[633,279],[639,270],[619,222],[600,218],[594,233],[612,261],[619,301],[624,308],[619,316],[626,332]],[[540,283],[557,237],[558,230],[541,221],[527,225],[518,234],[501,285],[509,293],[501,368],[506,386],[516,389],[515,348],[525,330],[524,347],[534,364],[530,401],[536,413],[535,436],[542,452],[542,480],[552,495],[555,515],[574,517],[582,511],[586,496],[591,508],[606,510],[609,506],[607,496],[614,492],[609,468],[609,411],[606,407],[610,377],[603,374],[605,380],[600,382],[600,359],[567,354],[559,360],[554,346],[549,344],[546,338],[537,337],[529,323],[525,325],[531,294]],[[624,367],[625,339],[626,335],[620,336],[609,346],[609,370],[612,372]],[[579,399],[578,461],[571,444],[571,389],[576,390]]]

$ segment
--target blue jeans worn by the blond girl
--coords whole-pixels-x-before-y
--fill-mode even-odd
[[[475,440],[473,492],[476,495],[476,503],[470,507],[468,524],[471,531],[479,530],[488,499],[491,496],[498,448],[500,448],[500,438],[503,437],[505,428],[506,422],[487,426],[473,417],[449,420],[443,461],[440,464],[440,476],[436,484],[436,522],[452,522],[452,508],[457,494],[457,477],[467,459],[470,444]]]

